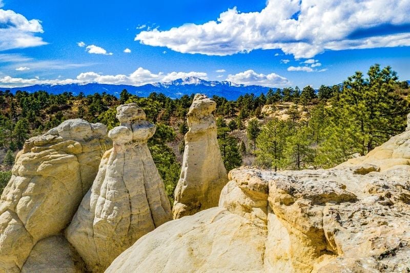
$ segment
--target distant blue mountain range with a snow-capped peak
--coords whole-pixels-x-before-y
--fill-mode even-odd
[[[72,83],[72,84],[36,84],[26,87],[6,88],[0,87],[0,90],[10,90],[15,93],[17,90],[27,91],[29,93],[38,90],[44,90],[50,94],[61,94],[64,92],[71,92],[78,95],[83,92],[85,95],[92,95],[94,93],[111,94],[119,96],[123,89],[133,95],[140,97],[147,97],[150,93],[163,93],[170,98],[180,98],[183,95],[191,95],[196,93],[206,94],[209,97],[213,95],[227,98],[228,100],[236,100],[240,95],[246,93],[253,93],[259,96],[261,93],[266,94],[269,87],[259,85],[244,85],[236,84],[230,81],[207,81],[197,77],[186,77],[170,82],[158,82],[153,84],[145,84],[141,86],[133,85],[116,85],[116,84],[101,84],[101,83]],[[277,88],[272,88],[276,90]]]

